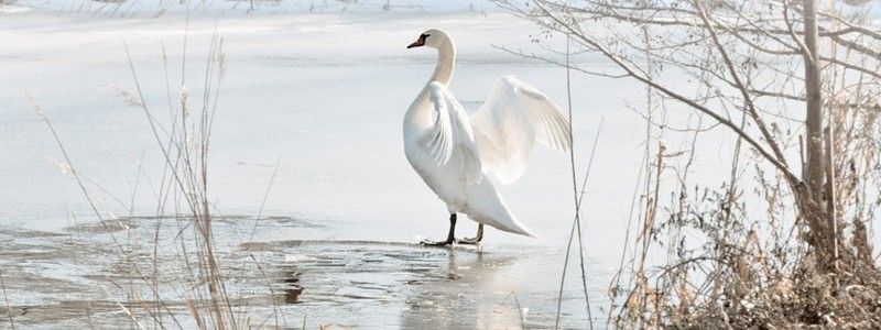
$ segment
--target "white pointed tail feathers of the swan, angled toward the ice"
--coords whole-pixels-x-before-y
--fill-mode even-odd
[[[471,220],[498,230],[534,238],[530,229],[511,215],[499,191],[486,176],[480,184],[468,186],[468,207],[465,213]]]

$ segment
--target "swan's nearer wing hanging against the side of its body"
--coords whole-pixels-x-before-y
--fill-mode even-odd
[[[434,125],[425,132],[420,143],[439,166],[447,165],[457,156],[455,158],[463,162],[468,184],[479,183],[483,170],[477,155],[471,125],[468,123],[468,113],[443,84],[432,81],[428,87],[435,119]]]

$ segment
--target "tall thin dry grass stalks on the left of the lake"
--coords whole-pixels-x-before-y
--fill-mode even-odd
[[[184,50],[185,47],[186,45],[184,45]],[[164,47],[163,54],[165,54]],[[183,54],[186,54],[186,51]],[[33,102],[35,113],[46,124],[64,155],[66,167],[69,168],[68,173],[75,178],[83,196],[91,206],[94,216],[99,220],[99,226],[105,228],[104,230],[98,228],[97,232],[107,234],[113,242],[116,253],[108,257],[116,258],[117,267],[124,270],[120,274],[120,278],[123,279],[105,276],[104,279],[112,285],[112,292],[104,286],[101,289],[108,299],[115,301],[128,317],[133,328],[248,329],[268,326],[267,320],[260,324],[252,324],[247,307],[240,309],[236,305],[237,302],[233,302],[237,299],[229,293],[227,283],[235,279],[237,275],[241,277],[243,274],[229,274],[228,267],[222,266],[224,261],[214,238],[215,217],[209,202],[208,155],[215,110],[225,69],[222,38],[217,35],[211,38],[204,78],[200,79],[202,95],[196,100],[191,95],[191,88],[184,78],[187,68],[186,55],[181,58],[181,81],[176,92],[172,91],[174,90],[172,86],[175,84],[170,79],[170,61],[167,56],[163,56],[170,122],[162,122],[159,119],[161,116],[156,116],[148,106],[141,88],[142,81],[139,79],[137,65],[131,59],[128,46],[126,46],[126,55],[129,57],[135,91],[120,91],[120,94],[130,106],[142,110],[156,147],[162,155],[159,190],[154,191],[156,209],[155,213],[150,216],[156,221],[152,242],[140,242],[138,233],[127,227],[126,221],[120,222],[119,219],[105,216],[108,212],[99,209],[99,205],[94,201],[93,194],[88,188],[89,186],[99,186],[77,170],[63,143],[64,140],[57,134],[52,122],[43,114],[36,102]],[[198,101],[200,105],[194,107],[194,103]],[[141,164],[139,163],[138,166],[140,177]],[[137,183],[138,179],[135,179],[135,185]],[[132,196],[130,210],[133,209],[133,200]],[[122,204],[121,200],[120,202]],[[171,229],[166,220],[173,220],[172,226],[176,226],[177,234],[172,238],[164,237]],[[127,234],[128,240],[118,235],[120,230]],[[171,246],[175,246],[176,256],[170,261],[167,253],[163,255],[160,251],[163,249],[167,251]],[[144,257],[148,257],[146,262]],[[258,261],[253,256],[251,260],[260,274],[265,276]],[[170,263],[176,265],[177,268],[170,266]],[[241,265],[242,270],[251,266],[247,263]],[[184,274],[184,276],[182,277],[180,274]],[[1,279],[2,277],[0,277],[0,284],[2,284]],[[269,287],[269,284],[267,286],[269,295],[272,296],[272,288]],[[167,288],[174,289],[168,292]],[[128,298],[118,299],[120,293]],[[275,302],[274,299],[271,300],[273,304]],[[10,310],[11,316],[8,301],[7,309]],[[91,320],[91,311],[86,312]],[[274,320],[274,327],[282,327],[278,308],[273,308],[270,318]],[[14,327],[11,318],[10,326]]]

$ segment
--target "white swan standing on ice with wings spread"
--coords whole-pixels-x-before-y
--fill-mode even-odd
[[[483,224],[532,237],[508,210],[487,175],[502,183],[516,180],[536,142],[568,151],[568,120],[544,94],[513,76],[496,82],[480,110],[468,116],[447,89],[456,62],[453,38],[432,29],[407,48],[421,46],[436,48],[439,58],[434,75],[404,116],[404,151],[410,165],[450,213],[447,239],[423,244],[476,244],[483,237]],[[480,223],[477,237],[455,240],[457,212]]]

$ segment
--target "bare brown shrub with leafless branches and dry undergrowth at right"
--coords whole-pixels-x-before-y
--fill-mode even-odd
[[[610,321],[881,327],[867,231],[881,175],[881,29],[863,2],[497,2],[613,65],[566,67],[646,87],[641,224],[610,285]],[[512,53],[563,65],[554,54]],[[697,120],[671,125],[659,110],[668,103]],[[707,187],[688,173],[695,142],[714,129],[735,147],[730,172]],[[692,145],[664,145],[673,134]],[[648,262],[659,248],[665,261]]]

